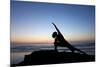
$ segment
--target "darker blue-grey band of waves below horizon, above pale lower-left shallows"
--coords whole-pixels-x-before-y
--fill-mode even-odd
[[[83,50],[85,52],[95,52],[95,43],[85,43],[85,44],[73,44],[74,47]],[[42,45],[42,44],[25,44],[25,45],[11,45],[11,52],[33,52],[38,50],[54,50],[53,45]],[[67,50],[66,47],[58,47],[58,50]]]

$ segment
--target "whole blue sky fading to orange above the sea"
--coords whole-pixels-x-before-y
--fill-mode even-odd
[[[95,6],[11,1],[11,42],[53,43],[54,22],[69,42],[95,41]]]

